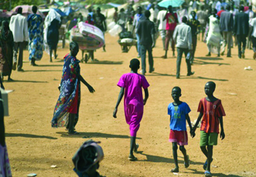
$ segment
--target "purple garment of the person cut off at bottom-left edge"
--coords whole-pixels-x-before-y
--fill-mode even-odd
[[[12,177],[6,145],[0,145],[0,177]]]

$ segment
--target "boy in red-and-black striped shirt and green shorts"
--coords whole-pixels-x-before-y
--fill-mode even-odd
[[[213,96],[216,84],[214,82],[207,82],[204,87],[204,92],[207,97],[200,100],[197,112],[200,112],[196,125],[193,127],[193,132],[203,117],[200,129],[200,148],[207,161],[203,165],[205,176],[212,176],[210,173],[210,163],[213,161],[213,145],[217,145],[217,138],[219,134],[220,123],[220,138],[225,138],[223,116],[225,116],[224,108],[220,99]]]

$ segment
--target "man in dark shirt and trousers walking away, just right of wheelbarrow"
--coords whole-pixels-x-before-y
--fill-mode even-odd
[[[149,20],[150,12],[148,10],[144,13],[145,19],[138,22],[137,34],[140,39],[141,45],[141,56],[142,56],[142,75],[145,75],[146,64],[145,55],[148,51],[148,63],[149,63],[149,73],[154,72],[154,60],[152,56],[152,48],[155,47],[155,25],[154,22]]]

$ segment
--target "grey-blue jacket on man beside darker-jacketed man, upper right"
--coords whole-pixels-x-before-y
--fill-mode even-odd
[[[220,31],[233,31],[233,15],[230,12],[222,12],[220,16]]]

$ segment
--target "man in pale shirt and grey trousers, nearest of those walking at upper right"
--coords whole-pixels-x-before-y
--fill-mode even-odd
[[[173,32],[173,40],[176,42],[177,47],[177,62],[176,62],[176,78],[179,78],[181,59],[183,58],[183,52],[186,57],[187,66],[187,76],[193,75],[191,72],[191,64],[189,58],[187,58],[188,53],[192,53],[192,34],[189,25],[186,25],[186,16],[182,19],[182,24],[177,25]]]

